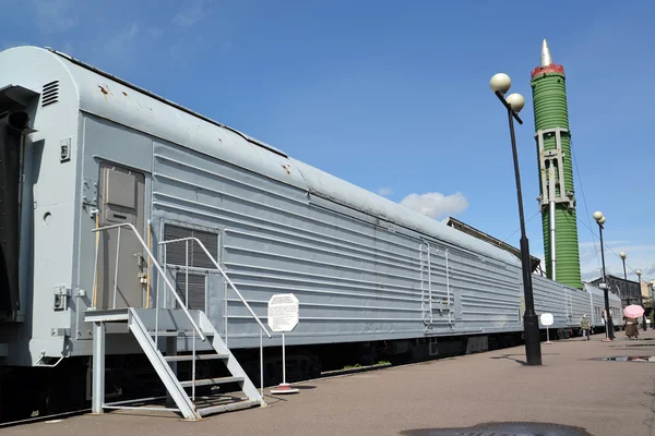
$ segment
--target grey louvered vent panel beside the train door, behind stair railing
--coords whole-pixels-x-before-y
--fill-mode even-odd
[[[189,237],[198,238],[204,244],[207,251],[212,254],[212,256],[218,259],[218,233],[212,233],[168,223],[164,226],[165,241]],[[184,242],[168,244],[168,249],[166,252],[166,263],[169,265],[184,266],[187,256],[187,249],[184,245]],[[189,266],[209,269],[216,268],[214,263],[207,257],[202,247],[194,241],[189,242]]]

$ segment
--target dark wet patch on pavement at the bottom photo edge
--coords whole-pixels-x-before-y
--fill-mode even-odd
[[[467,428],[420,428],[405,436],[593,436],[584,428],[550,423],[487,423]]]

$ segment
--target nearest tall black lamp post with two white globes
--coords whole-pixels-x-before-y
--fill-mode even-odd
[[[514,137],[514,119],[523,124],[519,112],[525,106],[525,99],[521,94],[504,95],[512,86],[512,80],[504,73],[495,74],[489,86],[500,102],[508,110],[510,122],[510,136],[512,140],[512,156],[514,158],[514,177],[516,179],[516,196],[519,199],[519,219],[521,220],[521,265],[523,269],[523,294],[525,296],[525,313],[523,314],[523,331],[525,336],[525,360],[528,365],[541,364],[541,342],[539,335],[539,320],[535,313],[533,299],[532,268],[529,264],[529,244],[525,235],[525,221],[523,217],[523,196],[521,193],[521,174],[519,172],[519,158],[516,155],[516,138]]]

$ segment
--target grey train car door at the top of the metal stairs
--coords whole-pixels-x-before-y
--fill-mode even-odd
[[[99,185],[99,227],[129,222],[143,237],[145,175],[103,162]],[[120,230],[120,244],[118,239],[118,229],[99,234],[97,307],[143,307],[142,277],[147,267],[143,246],[128,227]]]

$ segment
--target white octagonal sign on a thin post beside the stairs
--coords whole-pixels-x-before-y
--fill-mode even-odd
[[[271,393],[296,393],[298,389],[291,388],[286,383],[286,353],[284,334],[293,331],[298,325],[299,305],[298,299],[293,293],[279,293],[269,300],[269,327],[273,331],[282,332],[282,384]]]

